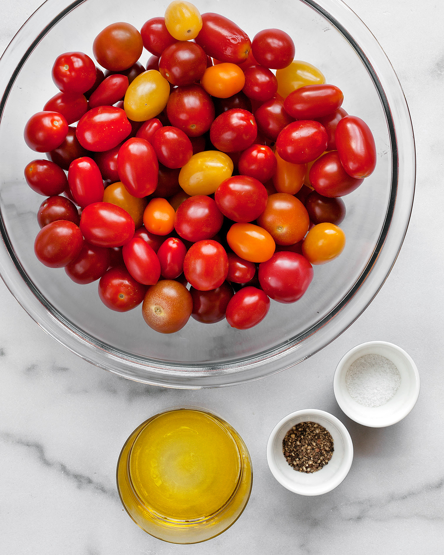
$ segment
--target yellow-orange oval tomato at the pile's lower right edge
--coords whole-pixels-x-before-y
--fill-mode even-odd
[[[302,243],[302,254],[310,264],[325,264],[337,258],[345,247],[345,233],[334,224],[317,224]]]

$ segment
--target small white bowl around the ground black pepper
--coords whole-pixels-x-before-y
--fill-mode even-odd
[[[306,474],[294,470],[282,453],[282,440],[293,426],[300,422],[316,422],[331,433],[334,441],[333,455],[327,465]],[[344,424],[325,411],[316,408],[292,412],[276,424],[268,438],[267,461],[278,482],[299,495],[321,495],[334,490],[349,473],[353,460],[353,443]]]

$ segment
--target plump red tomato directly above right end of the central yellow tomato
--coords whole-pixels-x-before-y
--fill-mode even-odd
[[[211,124],[210,140],[222,152],[239,152],[253,144],[258,135],[254,116],[248,110],[227,110]]]

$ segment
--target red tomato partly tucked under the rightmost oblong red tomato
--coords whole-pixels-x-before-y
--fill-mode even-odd
[[[348,195],[361,185],[364,178],[355,179],[346,173],[336,150],[327,152],[311,166],[309,179],[322,196]]]

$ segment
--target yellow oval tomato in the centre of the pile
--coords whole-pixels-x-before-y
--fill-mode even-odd
[[[179,185],[190,196],[211,195],[231,177],[233,160],[219,150],[194,154],[179,173]]]

